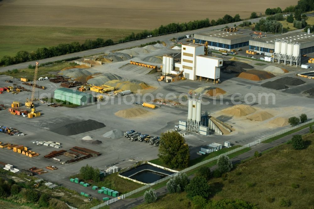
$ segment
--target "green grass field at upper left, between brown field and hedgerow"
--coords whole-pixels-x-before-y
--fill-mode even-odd
[[[0,59],[4,55],[14,56],[18,51],[34,51],[39,47],[56,46],[60,43],[86,39],[102,38],[113,41],[121,40],[123,36],[135,34],[141,30],[106,29],[106,28],[74,28],[74,27],[33,27],[33,26],[3,26],[0,25]]]

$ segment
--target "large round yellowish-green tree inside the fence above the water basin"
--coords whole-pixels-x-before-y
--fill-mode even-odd
[[[186,168],[190,159],[189,147],[177,131],[167,131],[160,136],[158,156],[171,168]]]

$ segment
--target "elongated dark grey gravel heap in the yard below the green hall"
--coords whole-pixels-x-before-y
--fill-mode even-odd
[[[87,120],[87,121],[79,121],[75,123],[70,123],[65,126],[51,129],[50,131],[64,135],[64,136],[71,136],[71,135],[84,133],[87,131],[93,131],[95,129],[99,129],[103,127],[105,127],[105,124],[103,123],[100,123],[94,120]]]

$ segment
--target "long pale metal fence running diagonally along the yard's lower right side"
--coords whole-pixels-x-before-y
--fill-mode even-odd
[[[296,129],[296,128],[299,128],[299,127],[301,127],[301,126],[307,125],[307,124],[312,123],[312,122],[314,122],[314,119],[313,119],[313,120],[310,120],[310,121],[306,121],[306,122],[301,123],[301,124],[299,124],[299,125],[296,125],[296,126],[293,126],[293,127],[287,128],[287,129],[284,129],[284,130],[282,130],[282,131],[279,131],[279,132],[274,133],[274,134],[272,134],[272,135],[269,135],[269,136],[267,136],[267,137],[263,137],[263,138],[261,138],[261,139],[258,139],[258,140],[256,140],[256,141],[254,141],[254,142],[251,142],[251,143],[248,143],[248,144],[246,144],[246,145],[244,145],[244,146],[242,146],[242,147],[238,147],[238,148],[236,148],[236,149],[230,150],[229,152],[223,153],[223,154],[221,154],[221,155],[229,155],[229,154],[235,153],[235,152],[237,152],[237,151],[240,151],[240,150],[242,150],[242,149],[244,149],[244,148],[252,147],[252,146],[254,146],[254,145],[256,145],[256,144],[259,144],[259,143],[261,143],[261,142],[263,142],[263,141],[266,141],[267,139],[270,139],[270,138],[279,136],[279,135],[281,135],[281,134],[287,133],[287,132],[289,132],[289,131],[292,131],[292,130],[294,130],[294,129]],[[212,161],[214,161],[214,160],[217,160],[221,155],[216,156],[216,157],[214,157],[214,158],[210,158],[210,159],[208,159],[208,160],[204,160],[204,161],[202,161],[202,162],[200,162],[200,163],[197,163],[197,164],[195,164],[195,165],[192,165],[192,166],[189,167],[189,168],[186,168],[186,169],[184,169],[184,170],[181,170],[180,173],[186,173],[187,171],[190,171],[190,170],[193,170],[193,169],[195,169],[195,168],[198,168],[199,166],[202,166],[202,165],[204,165],[204,164],[206,164],[206,163],[209,163],[209,162],[212,162]],[[176,174],[176,173],[175,173],[175,174]],[[125,197],[131,196],[131,195],[133,195],[133,194],[135,194],[135,193],[138,193],[138,192],[140,192],[140,191],[146,190],[146,189],[148,189],[149,187],[151,187],[151,186],[153,186],[153,185],[156,185],[156,184],[159,184],[159,183],[164,182],[164,181],[166,181],[166,180],[169,180],[169,179],[172,178],[175,174],[171,174],[170,176],[167,176],[167,177],[165,177],[165,178],[163,178],[163,179],[157,180],[157,181],[155,181],[155,182],[153,182],[153,183],[151,183],[151,184],[142,186],[142,187],[140,187],[140,188],[138,188],[138,189],[136,189],[136,190],[130,191],[130,192],[124,194],[124,195],[121,195],[121,196],[119,196],[119,197],[113,198],[113,199],[111,199],[111,200],[109,200],[109,201],[106,201],[106,202],[104,202],[104,203],[102,203],[102,204],[100,204],[100,205],[97,205],[97,206],[95,206],[95,207],[92,207],[92,208],[90,208],[90,209],[98,209],[98,208],[100,208],[100,207],[109,205],[109,204],[111,204],[111,203],[113,203],[113,202],[116,202],[116,201],[118,201],[118,200],[122,200],[122,199],[124,199]]]

